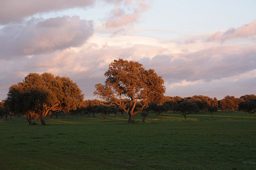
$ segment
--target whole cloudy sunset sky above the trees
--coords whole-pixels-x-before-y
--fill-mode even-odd
[[[256,94],[254,0],[0,0],[0,101],[30,72],[93,96],[122,58],[154,69],[166,96]]]

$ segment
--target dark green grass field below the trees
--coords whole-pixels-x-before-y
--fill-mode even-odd
[[[0,169],[256,169],[256,118],[244,112],[0,119]],[[39,123],[39,122],[38,122]]]

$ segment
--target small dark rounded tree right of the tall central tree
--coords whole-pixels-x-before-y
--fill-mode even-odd
[[[195,103],[191,102],[181,102],[179,104],[174,105],[173,110],[179,112],[186,119],[187,114],[197,113],[198,106]]]

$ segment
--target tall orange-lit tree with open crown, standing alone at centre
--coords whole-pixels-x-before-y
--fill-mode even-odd
[[[153,69],[146,70],[142,64],[123,59],[114,60],[105,72],[105,84],[96,84],[94,95],[99,98],[116,103],[129,115],[129,123],[133,116],[143,110],[151,102],[160,102],[165,92],[164,81]],[[130,99],[125,105],[122,99]],[[136,104],[141,106],[136,109]]]

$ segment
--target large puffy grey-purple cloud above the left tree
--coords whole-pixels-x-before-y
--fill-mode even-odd
[[[52,53],[76,47],[93,34],[92,21],[79,16],[31,19],[11,23],[0,30],[1,58]]]

